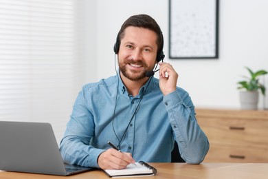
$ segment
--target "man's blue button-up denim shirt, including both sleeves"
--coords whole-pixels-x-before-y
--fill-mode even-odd
[[[98,156],[110,148],[107,142],[121,141],[121,151],[130,152],[136,161],[170,162],[175,140],[188,163],[202,162],[209,149],[189,94],[177,87],[163,96],[159,79],[152,77],[131,96],[121,79],[111,76],[82,87],[60,152],[69,164],[98,167]]]

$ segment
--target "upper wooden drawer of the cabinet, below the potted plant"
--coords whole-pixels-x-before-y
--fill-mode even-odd
[[[268,120],[198,116],[197,120],[211,143],[268,149]]]

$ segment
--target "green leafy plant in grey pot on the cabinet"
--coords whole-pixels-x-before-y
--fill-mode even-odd
[[[253,72],[249,67],[245,67],[250,74],[250,77],[243,76],[247,81],[239,81],[238,89],[245,89],[240,92],[241,109],[256,110],[258,109],[258,91],[265,96],[265,86],[259,82],[259,77],[267,74],[265,70]]]

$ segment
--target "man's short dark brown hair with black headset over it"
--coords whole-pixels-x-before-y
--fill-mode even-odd
[[[121,29],[118,32],[118,36],[116,37],[116,43],[114,47],[115,54],[118,53],[121,39],[124,37],[124,32],[129,26],[137,28],[146,28],[155,32],[157,34],[157,55],[162,53],[164,47],[164,38],[159,25],[152,17],[146,14],[138,14],[129,17],[129,19],[126,19],[126,21],[124,21],[124,23],[122,24]]]

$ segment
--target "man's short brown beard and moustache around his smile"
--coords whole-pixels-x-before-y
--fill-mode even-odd
[[[144,67],[144,70],[142,70],[142,72],[137,72],[136,70],[129,70],[128,71],[128,69],[126,68],[126,65],[129,63],[135,64],[135,65],[142,65]],[[152,67],[152,69],[148,69],[149,67],[147,67],[146,64],[142,63],[142,61],[126,60],[126,61],[123,61],[121,63],[118,61],[118,65],[119,65],[120,72],[122,72],[122,74],[126,78],[129,78],[131,81],[139,81],[143,78],[147,78],[146,72],[153,70],[153,67]]]

